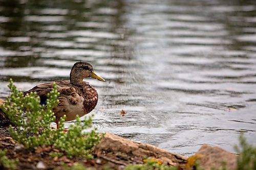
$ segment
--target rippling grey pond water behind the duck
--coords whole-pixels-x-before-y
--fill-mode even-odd
[[[25,91],[88,61],[100,132],[234,152],[241,131],[256,141],[255,33],[254,1],[1,1],[0,98],[9,78]]]

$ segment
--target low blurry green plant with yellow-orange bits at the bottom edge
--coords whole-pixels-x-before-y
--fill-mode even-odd
[[[143,160],[144,164],[129,164],[124,170],[177,170],[175,166],[162,164],[160,160],[147,158]]]

